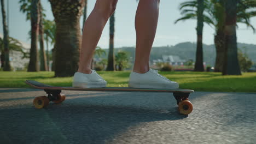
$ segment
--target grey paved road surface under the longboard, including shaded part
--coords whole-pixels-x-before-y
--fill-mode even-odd
[[[170,93],[72,92],[34,109],[36,89],[0,89],[0,143],[256,143],[256,94],[195,92],[189,116]]]

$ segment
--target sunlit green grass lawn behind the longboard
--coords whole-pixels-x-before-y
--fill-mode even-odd
[[[108,82],[108,87],[127,87],[130,71],[98,71]],[[221,73],[206,72],[160,72],[180,88],[210,92],[256,92],[256,73],[241,76],[222,76]],[[25,80],[36,80],[53,86],[72,86],[72,77],[54,77],[53,72],[5,72],[0,71],[1,88],[28,88]]]

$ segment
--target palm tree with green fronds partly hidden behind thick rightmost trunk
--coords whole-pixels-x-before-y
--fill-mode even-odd
[[[253,3],[254,2],[254,3]],[[205,21],[209,25],[213,25],[216,29],[214,36],[214,44],[216,46],[216,63],[214,71],[219,72],[223,69],[224,53],[225,53],[225,1],[212,0],[213,7],[208,7],[207,12],[211,17],[207,17]],[[245,7],[245,4],[247,5]],[[242,0],[237,4],[237,22],[245,23],[248,27],[255,28],[250,23],[250,18],[256,16],[255,11],[247,11],[247,9],[256,7],[254,0]]]

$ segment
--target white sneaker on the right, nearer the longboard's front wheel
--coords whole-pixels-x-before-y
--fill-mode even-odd
[[[129,87],[177,89],[179,88],[179,84],[158,74],[158,70],[149,69],[149,71],[144,74],[139,74],[132,71],[130,74]]]

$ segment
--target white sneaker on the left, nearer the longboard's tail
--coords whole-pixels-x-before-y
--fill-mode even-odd
[[[73,78],[73,87],[90,88],[90,87],[106,87],[105,81],[95,70],[91,74],[75,73]]]

